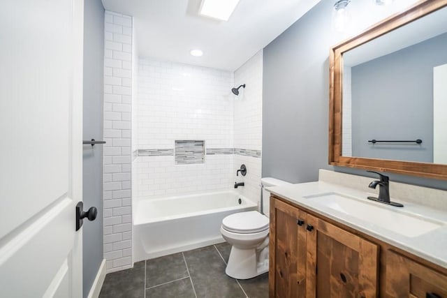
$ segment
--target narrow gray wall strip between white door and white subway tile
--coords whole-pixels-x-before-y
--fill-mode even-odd
[[[84,3],[84,140],[103,140],[104,8],[101,0]],[[103,260],[103,146],[84,145],[84,209],[98,208],[95,221],[82,225],[83,296],[87,297]]]

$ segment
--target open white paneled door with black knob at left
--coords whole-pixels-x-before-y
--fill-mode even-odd
[[[0,297],[82,297],[83,0],[0,7]]]

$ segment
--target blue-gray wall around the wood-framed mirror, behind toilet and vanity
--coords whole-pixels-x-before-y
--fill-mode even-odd
[[[329,50],[333,1],[322,0],[263,52],[263,177],[316,181],[328,165]],[[347,36],[344,36],[345,38]],[[336,171],[366,174],[335,167]],[[389,174],[394,181],[447,189],[445,181]]]

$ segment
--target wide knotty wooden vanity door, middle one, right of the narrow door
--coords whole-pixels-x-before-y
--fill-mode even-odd
[[[307,215],[306,297],[377,297],[379,248]]]

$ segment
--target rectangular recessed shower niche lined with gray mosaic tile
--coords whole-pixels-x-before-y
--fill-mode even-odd
[[[205,141],[175,140],[175,164],[205,163]]]

